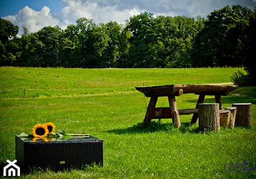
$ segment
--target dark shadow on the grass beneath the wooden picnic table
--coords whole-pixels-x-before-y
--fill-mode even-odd
[[[190,124],[190,123],[181,123],[180,129],[174,127],[173,123],[162,124],[158,121],[151,121],[148,123],[147,127],[143,126],[143,122],[137,123],[132,127],[124,128],[124,129],[114,129],[109,130],[108,132],[117,133],[118,135],[124,133],[151,133],[157,131],[164,132],[191,132],[191,133],[201,133],[202,131],[198,128],[198,124]]]

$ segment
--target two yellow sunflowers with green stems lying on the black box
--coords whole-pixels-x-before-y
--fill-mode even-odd
[[[18,135],[19,138],[23,138],[23,140],[29,140],[31,138],[33,142],[36,141],[45,141],[45,142],[52,142],[58,141],[63,139],[68,139],[72,137],[90,137],[89,134],[85,133],[66,133],[65,130],[57,130],[54,132],[55,126],[53,123],[48,122],[45,124],[36,124],[32,128],[32,135],[28,135],[27,133],[20,133]]]

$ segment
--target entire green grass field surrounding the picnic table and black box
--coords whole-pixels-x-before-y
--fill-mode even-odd
[[[141,128],[149,99],[135,86],[229,83],[241,68],[43,69],[0,68],[0,162],[15,159],[15,135],[36,123],[90,133],[104,140],[104,166],[82,170],[32,171],[20,178],[256,178],[255,170],[227,172],[225,164],[256,167],[256,87],[239,87],[222,97],[223,107],[252,103],[252,126],[201,133],[192,115]],[[26,89],[26,99],[24,99]],[[198,95],[177,97],[179,109],[194,108]],[[205,102],[215,102],[208,96]],[[157,107],[167,107],[162,97]],[[254,169],[254,168],[253,168]]]

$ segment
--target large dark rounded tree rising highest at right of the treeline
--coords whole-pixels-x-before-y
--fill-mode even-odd
[[[211,12],[193,47],[194,66],[242,65],[245,28],[251,13],[250,9],[240,5]]]

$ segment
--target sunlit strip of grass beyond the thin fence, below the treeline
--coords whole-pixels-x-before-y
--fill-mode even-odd
[[[0,98],[82,96],[135,91],[135,86],[230,82],[242,68],[43,69],[0,68]],[[58,90],[56,90],[58,89]]]

